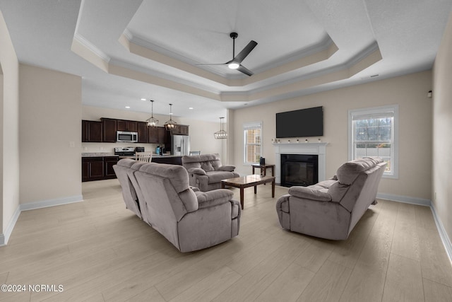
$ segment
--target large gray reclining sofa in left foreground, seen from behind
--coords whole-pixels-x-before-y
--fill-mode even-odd
[[[143,221],[181,252],[208,248],[239,234],[242,209],[233,193],[192,190],[182,165],[121,159],[114,169],[126,207],[134,212],[138,208]]]

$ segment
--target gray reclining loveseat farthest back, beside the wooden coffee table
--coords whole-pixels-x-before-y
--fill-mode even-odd
[[[234,165],[222,165],[218,154],[182,156],[182,165],[189,172],[189,182],[202,192],[220,189],[221,180],[238,178]]]

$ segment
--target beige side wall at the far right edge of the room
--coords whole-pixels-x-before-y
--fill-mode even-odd
[[[432,204],[452,238],[452,13],[434,63]]]

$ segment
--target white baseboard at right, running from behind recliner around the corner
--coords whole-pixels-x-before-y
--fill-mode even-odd
[[[449,260],[452,262],[451,239],[448,237],[448,235],[446,233],[446,229],[444,228],[443,223],[441,223],[439,216],[436,215],[436,210],[435,210],[435,207],[432,204],[431,200],[415,198],[415,197],[408,197],[408,196],[384,194],[384,193],[376,194],[376,198],[388,199],[393,202],[405,202],[407,204],[417,204],[420,206],[430,207],[430,210],[432,210],[433,218],[435,220],[436,228],[438,229],[439,237],[441,238],[441,241],[443,242],[443,245],[444,245],[444,248],[446,249],[446,253],[449,257]]]

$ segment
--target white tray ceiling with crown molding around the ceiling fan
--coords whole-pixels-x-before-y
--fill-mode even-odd
[[[452,0],[0,0],[18,59],[83,104],[218,122],[227,108],[432,68]],[[242,62],[225,63],[255,40]],[[375,76],[378,75],[378,76]],[[146,98],[143,101],[141,98]],[[188,108],[194,108],[189,110]],[[300,105],[300,108],[302,105]]]

